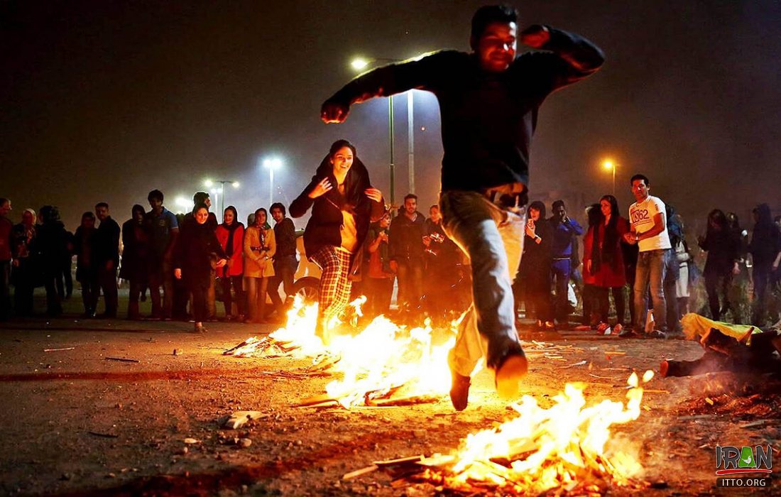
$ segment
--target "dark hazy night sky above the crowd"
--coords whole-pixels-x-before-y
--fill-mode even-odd
[[[330,143],[348,138],[387,195],[387,99],[326,125],[320,104],[355,72],[349,61],[469,50],[483,2],[0,2],[0,196],[12,219],[59,206],[70,230],[106,201],[120,223],[153,188],[191,198],[206,178],[241,181],[226,205],[268,207],[259,165],[284,161],[275,201],[289,203]],[[533,197],[612,190],[629,177],[704,227],[712,208],[744,220],[776,213],[781,163],[781,2],[694,0],[515,4],[520,26],[546,23],[594,41],[593,77],[551,95],[533,141]],[[519,48],[520,49],[520,48]],[[408,190],[406,98],[395,100],[396,198]],[[436,201],[441,145],[432,95],[415,95],[420,204]],[[425,127],[425,131],[423,128]],[[570,209],[582,206],[570,206]],[[425,210],[425,209],[421,209]],[[626,213],[624,214],[626,216]],[[303,223],[297,222],[298,227]]]

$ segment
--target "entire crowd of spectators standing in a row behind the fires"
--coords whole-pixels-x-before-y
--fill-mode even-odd
[[[778,319],[781,231],[769,206],[754,208],[751,238],[734,213],[713,209],[696,238],[704,254],[698,266],[703,257],[687,242],[681,216],[650,195],[650,188],[647,177],[636,175],[637,202],[628,209],[629,219],[613,195],[604,195],[587,206],[583,227],[562,200],[552,203],[550,217],[544,202],[532,202],[513,287],[517,315],[525,313],[540,331],[568,327],[575,294],[584,328],[669,338],[679,334],[679,319],[690,310],[714,320],[740,320],[733,300],[742,275],[752,288],[751,323]],[[100,295],[100,316],[118,316],[119,278],[129,287],[129,320],[191,319],[196,331],[204,331],[204,322],[216,320],[216,302],[223,302],[224,320],[280,320],[302,256],[285,206],[277,202],[269,211],[255,210],[245,227],[234,206],[226,207],[218,223],[205,192],[196,193],[193,202],[191,213],[175,215],[163,206],[161,191],[150,191],[150,209],[133,206],[121,230],[109,205],[100,202],[71,233],[55,206],[25,209],[14,224],[10,200],[0,198],[0,318],[32,316],[38,287],[45,288],[46,314],[59,316],[62,300],[73,294],[75,259],[86,318],[96,316]],[[418,198],[406,195],[397,216],[387,209],[369,224],[357,252],[361,270],[351,275],[351,298],[366,295],[366,316],[391,311],[397,283],[400,320],[416,322],[426,315],[446,323],[469,306],[469,260],[444,232],[437,205],[426,218]],[[690,309],[700,281],[707,305]],[[147,293],[152,312],[141,316],[139,302]]]

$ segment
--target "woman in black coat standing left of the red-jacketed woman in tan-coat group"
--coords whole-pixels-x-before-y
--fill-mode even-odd
[[[195,332],[204,333],[203,322],[209,317],[207,294],[212,281],[212,254],[216,254],[216,267],[226,265],[228,258],[219,245],[217,235],[209,221],[209,208],[201,203],[193,208],[194,222],[186,223],[177,241],[173,275],[184,280],[192,295],[192,314]]]

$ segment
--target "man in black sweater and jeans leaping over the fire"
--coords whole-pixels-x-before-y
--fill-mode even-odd
[[[437,95],[442,120],[440,206],[444,230],[472,263],[473,304],[451,350],[451,401],[466,408],[470,375],[485,357],[502,399],[519,395],[526,356],[515,330],[512,279],[521,259],[529,184],[529,148],[537,109],[558,88],[594,73],[599,48],[575,34],[534,25],[518,32],[518,14],[484,6],[472,19],[472,53],[442,51],[380,67],[323,103],[326,123],[350,105],[412,88]],[[515,57],[517,43],[540,50]]]

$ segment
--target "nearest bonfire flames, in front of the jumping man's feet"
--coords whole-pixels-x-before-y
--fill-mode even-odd
[[[643,381],[651,377],[653,372],[646,371]],[[640,416],[643,388],[638,386],[637,374],[627,384],[626,404],[604,400],[587,406],[583,383],[566,384],[549,409],[524,395],[512,406],[518,417],[469,434],[461,449],[448,458],[452,463],[445,477],[448,486],[482,483],[508,492],[546,492],[597,480],[621,486],[636,483],[633,479],[643,469],[637,459],[621,450],[606,449],[612,425]]]

